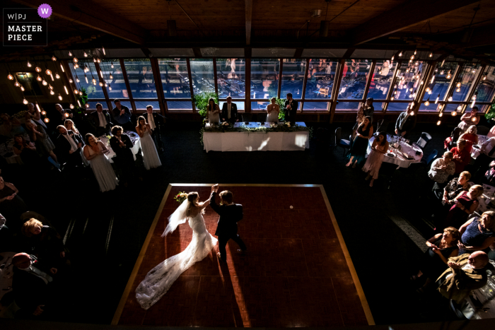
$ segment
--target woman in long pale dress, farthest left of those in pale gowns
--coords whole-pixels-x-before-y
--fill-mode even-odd
[[[109,152],[107,147],[101,141],[98,141],[93,134],[88,133],[86,134],[86,146],[84,146],[83,150],[84,157],[89,161],[96,181],[98,181],[100,191],[105,192],[115,189],[119,184],[119,180],[105,155],[105,153]]]

